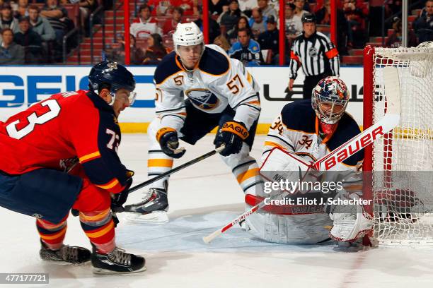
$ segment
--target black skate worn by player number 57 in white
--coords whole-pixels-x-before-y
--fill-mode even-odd
[[[167,211],[167,191],[161,188],[149,188],[142,202],[125,206],[125,212],[131,212],[127,220],[132,222],[168,222]]]

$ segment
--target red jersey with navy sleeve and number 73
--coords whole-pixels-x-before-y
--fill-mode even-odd
[[[85,90],[59,93],[0,122],[0,170],[60,170],[78,157],[93,184],[117,193],[127,179],[119,144],[117,118],[102,98]]]

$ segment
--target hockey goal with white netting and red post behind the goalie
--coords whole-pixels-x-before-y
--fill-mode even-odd
[[[365,150],[372,236],[379,244],[433,246],[433,47],[364,49],[364,128],[386,111],[386,66],[398,68],[401,119]]]

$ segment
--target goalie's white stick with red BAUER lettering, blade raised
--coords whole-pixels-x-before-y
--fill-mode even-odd
[[[374,143],[374,140],[383,136],[383,134],[391,131],[400,122],[400,84],[398,78],[398,70],[395,67],[383,68],[383,80],[385,84],[385,93],[387,97],[387,110],[385,116],[383,116],[376,124],[367,128],[366,130],[359,133],[354,138],[348,140],[346,143],[340,145],[340,147],[330,152],[330,154],[321,157],[319,160],[311,164],[313,169],[318,171],[328,170],[334,167],[337,163],[340,163],[350,156],[354,155],[366,146]],[[290,192],[286,191],[282,193],[282,197],[286,197]],[[221,229],[203,237],[204,243],[209,244],[217,236],[223,234],[228,229],[238,224],[242,220],[246,219],[249,215],[255,211],[265,207],[265,200],[255,205],[253,208],[237,217],[235,220],[226,224]]]

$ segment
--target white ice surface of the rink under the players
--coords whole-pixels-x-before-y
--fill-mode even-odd
[[[213,136],[195,146],[175,166],[212,150]],[[259,159],[263,136],[255,140]],[[127,134],[120,157],[136,173],[134,185],[146,180],[147,137]],[[132,193],[128,203],[141,198]],[[35,220],[0,208],[0,272],[45,272],[50,287],[433,287],[433,248],[372,248],[365,251],[321,246],[269,244],[234,227],[212,244],[202,236],[243,212],[243,193],[228,167],[213,156],[171,177],[167,224],[117,227],[117,244],[146,258],[145,272],[95,276],[91,265],[73,266],[40,260]],[[78,218],[69,217],[65,243],[90,248]],[[6,285],[1,285],[6,287]],[[9,287],[25,287],[8,285]],[[43,287],[33,284],[29,287]]]

